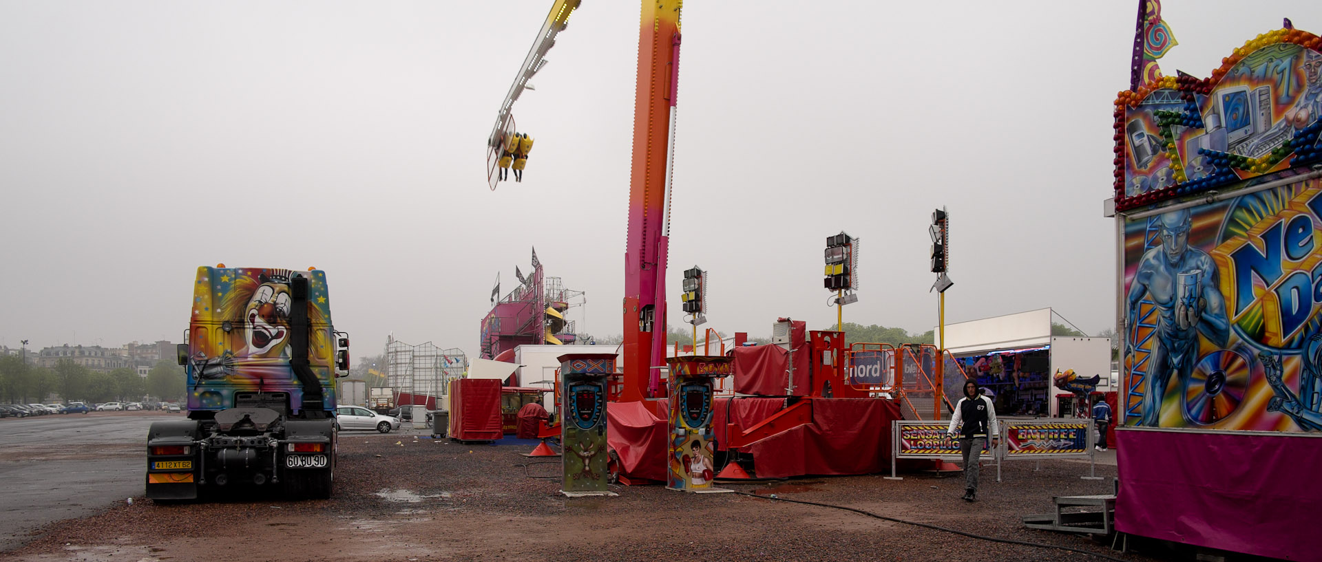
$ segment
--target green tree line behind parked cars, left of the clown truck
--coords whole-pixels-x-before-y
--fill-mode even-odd
[[[157,361],[141,377],[131,368],[103,373],[67,359],[46,368],[13,355],[0,358],[0,398],[5,404],[45,402],[53,394],[65,402],[137,401],[144,396],[177,401],[184,398],[185,387],[184,368],[175,361]]]

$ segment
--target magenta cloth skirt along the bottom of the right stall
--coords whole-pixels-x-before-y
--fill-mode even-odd
[[[1272,558],[1317,559],[1317,437],[1116,431],[1116,529]]]

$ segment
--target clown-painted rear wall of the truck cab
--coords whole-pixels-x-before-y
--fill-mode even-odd
[[[303,404],[290,367],[293,276],[308,278],[308,363],[334,408],[334,339],[325,273],[258,268],[197,268],[188,335],[188,409],[233,408],[235,392],[288,392]]]

